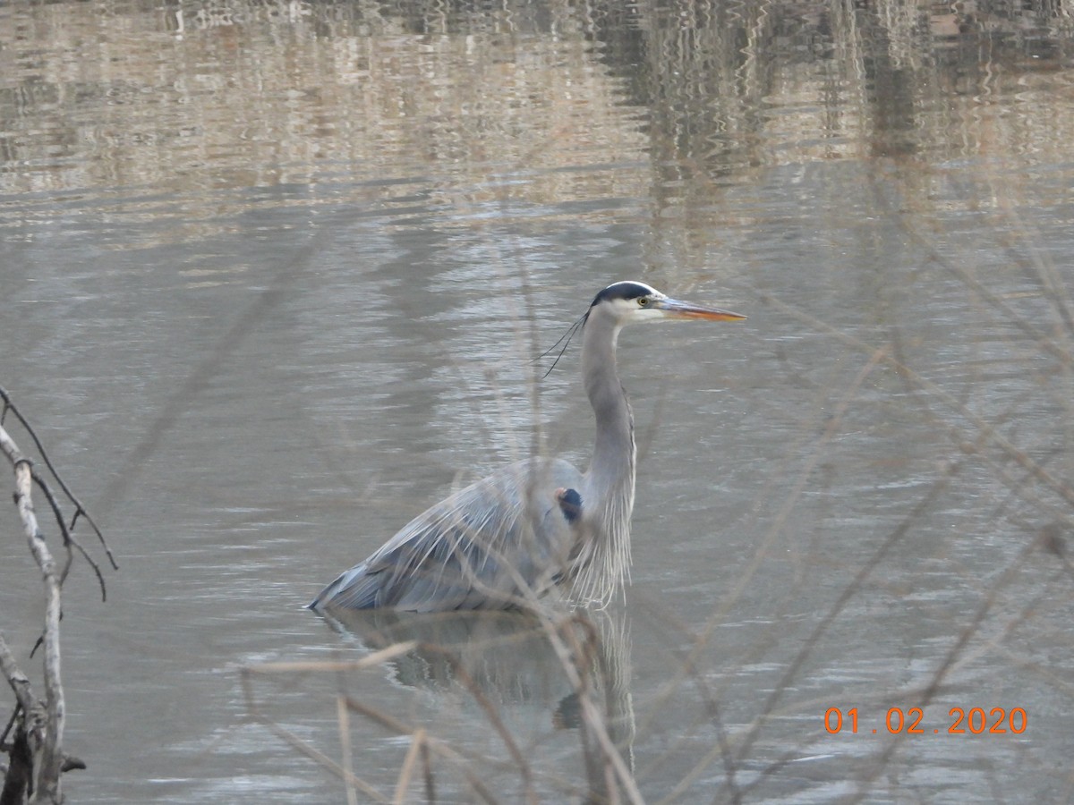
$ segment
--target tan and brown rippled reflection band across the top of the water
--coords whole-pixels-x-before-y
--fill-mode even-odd
[[[12,121],[0,156],[29,166],[39,187],[84,187],[95,172],[195,187],[206,169],[216,187],[296,181],[322,160],[381,164],[393,152],[463,173],[484,173],[490,160],[553,169],[563,165],[552,155],[583,145],[637,159],[640,126],[672,193],[683,175],[908,153],[923,143],[961,149],[948,106],[1074,55],[1055,0],[954,9],[231,0],[197,14],[125,11],[122,26],[79,4],[10,13],[48,43],[15,36],[18,26],[0,30],[0,116]],[[84,41],[101,44],[88,55]],[[1064,115],[1054,103],[1039,112]],[[251,149],[260,167],[230,162]],[[56,162],[72,157],[85,162]],[[53,170],[39,170],[42,161]],[[550,195],[569,197],[579,177],[546,180]],[[526,189],[539,192],[540,181]]]

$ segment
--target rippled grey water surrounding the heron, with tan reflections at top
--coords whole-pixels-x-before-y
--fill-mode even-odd
[[[628,278],[750,317],[621,345],[593,619],[642,796],[1070,800],[1072,87],[1048,2],[0,5],[0,384],[120,565],[66,587],[71,800],[345,802],[296,742],[391,800],[409,738],[345,692],[461,752],[438,801],[580,801],[542,641],[302,605],[537,431],[584,465],[577,349],[532,358]],[[408,629],[454,663],[264,665]]]

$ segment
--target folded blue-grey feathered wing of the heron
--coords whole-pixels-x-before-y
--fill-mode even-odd
[[[562,460],[511,465],[415,517],[313,605],[508,609],[541,595],[574,546],[556,489],[580,481]]]

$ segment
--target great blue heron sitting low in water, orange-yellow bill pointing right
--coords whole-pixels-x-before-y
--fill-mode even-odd
[[[531,458],[456,492],[410,521],[321,590],[310,609],[417,612],[525,606],[556,585],[607,604],[630,565],[634,418],[615,371],[625,324],[744,316],[680,302],[644,282],[615,282],[582,327],[582,379],[596,415],[589,469]]]

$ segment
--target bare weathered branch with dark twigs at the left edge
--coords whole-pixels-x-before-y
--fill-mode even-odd
[[[3,634],[0,633],[0,674],[8,680],[15,693],[14,712],[8,720],[6,728],[0,733],[0,750],[6,752],[9,758],[3,789],[0,790],[0,805],[58,803],[63,800],[60,775],[72,769],[86,767],[85,763],[77,758],[63,753],[66,708],[63,686],[60,678],[60,595],[75,551],[82,554],[93,568],[100,583],[102,598],[105,595],[104,577],[100,567],[89,557],[74,537],[74,527],[79,516],[90,524],[98,539],[101,540],[113,568],[116,568],[116,564],[107,545],[104,544],[100,529],[97,528],[82,503],[60,479],[33,428],[19,413],[3,389],[0,389],[0,399],[3,400],[3,410],[0,413],[0,452],[8,457],[14,470],[15,508],[23,523],[23,531],[30,548],[30,555],[41,572],[45,595],[45,623],[39,640],[39,646],[43,648],[43,699],[39,699],[34,694],[29,677],[18,668],[14,654],[8,646]],[[4,429],[3,421],[8,412],[13,413],[27,430],[37,447],[38,454],[48,468],[50,477],[62,489],[68,500],[74,504],[75,512],[70,524],[64,521],[59,501],[53,494],[48,482],[35,471],[33,462],[21,453],[14,439]],[[66,555],[62,568],[53,557],[38,523],[31,497],[34,485],[41,489],[56,518]]]

